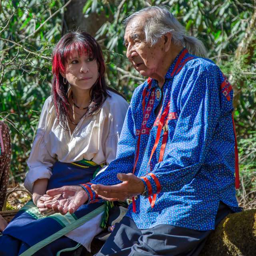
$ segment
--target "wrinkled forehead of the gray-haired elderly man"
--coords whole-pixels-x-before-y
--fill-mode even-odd
[[[126,26],[124,33],[124,40],[128,41],[129,39],[133,39],[139,36],[140,38],[145,37],[144,32],[144,20],[141,17],[133,18]]]

